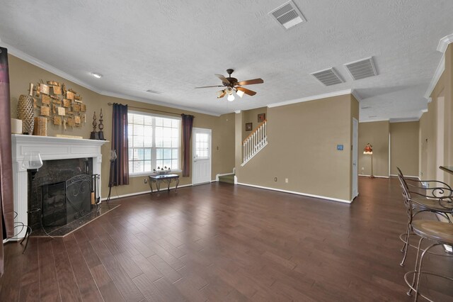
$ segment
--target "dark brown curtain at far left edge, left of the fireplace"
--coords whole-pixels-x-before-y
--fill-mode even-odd
[[[8,52],[0,47],[0,231],[3,238],[14,235],[13,163],[11,156],[11,103],[9,100]],[[4,270],[0,247],[0,276]]]

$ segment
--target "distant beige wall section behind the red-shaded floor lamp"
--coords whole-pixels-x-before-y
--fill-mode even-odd
[[[389,121],[359,123],[359,174],[371,174],[371,155],[363,154],[369,142],[373,146],[374,176],[389,177]]]

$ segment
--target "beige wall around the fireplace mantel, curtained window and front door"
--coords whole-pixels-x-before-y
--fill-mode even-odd
[[[112,107],[108,106],[108,103],[121,103],[129,106],[137,106],[148,109],[157,109],[161,111],[171,111],[174,113],[186,113],[195,116],[193,126],[196,128],[209,128],[212,129],[212,179],[215,179],[216,174],[229,173],[234,168],[234,140],[235,140],[235,116],[234,113],[229,113],[223,116],[210,116],[207,114],[183,111],[176,108],[170,108],[165,106],[156,106],[152,104],[145,104],[142,102],[131,101],[127,99],[117,99],[111,96],[103,96],[97,94],[94,91],[74,84],[73,82],[58,77],[51,72],[47,72],[44,69],[31,65],[13,55],[8,56],[9,60],[9,76],[10,76],[10,89],[11,89],[11,117],[16,117],[16,108],[18,103],[18,97],[21,94],[28,94],[28,84],[38,83],[42,79],[43,82],[49,80],[56,82],[63,82],[67,88],[72,88],[77,93],[83,96],[84,104],[86,104],[86,125],[81,128],[67,128],[63,130],[62,126],[54,126],[52,123],[47,123],[47,135],[53,136],[56,134],[65,135],[80,135],[84,138],[89,138],[91,130],[92,117],[94,111],[96,116],[99,118],[99,111],[103,110],[104,116],[104,135],[105,139],[110,141],[112,132]],[[134,111],[141,111],[141,109],[131,108]],[[152,112],[152,111],[146,111]],[[106,142],[102,147],[103,158],[109,157],[110,142]],[[192,148],[190,148],[192,150]],[[108,160],[104,160],[102,164],[102,191],[103,197],[108,192],[108,173],[110,164]],[[191,175],[191,174],[190,174]],[[181,177],[180,185],[191,184],[191,177]],[[137,192],[149,190],[148,184],[144,184],[144,177],[131,177],[130,185],[118,186],[113,189],[113,194],[134,194]]]

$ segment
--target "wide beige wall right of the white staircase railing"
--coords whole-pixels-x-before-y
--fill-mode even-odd
[[[236,158],[239,183],[350,201],[351,102],[347,94],[268,108],[268,145],[244,167]]]

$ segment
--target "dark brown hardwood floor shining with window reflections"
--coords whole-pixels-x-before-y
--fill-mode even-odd
[[[25,255],[6,244],[0,301],[412,301],[398,180],[360,177],[359,191],[352,205],[222,183],[123,198]],[[423,284],[452,301],[452,283]]]

